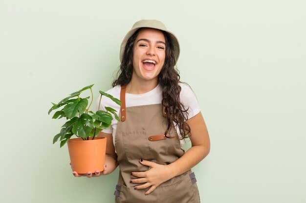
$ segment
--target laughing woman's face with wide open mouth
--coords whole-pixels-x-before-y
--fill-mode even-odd
[[[156,29],[141,29],[133,46],[133,79],[157,82],[157,76],[165,63],[165,56],[164,34]]]

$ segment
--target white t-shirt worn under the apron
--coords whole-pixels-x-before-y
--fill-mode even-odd
[[[187,111],[188,119],[192,118],[193,116],[197,115],[197,113],[200,112],[200,107],[197,102],[196,95],[188,85],[184,83],[179,83],[179,86],[181,87],[180,100],[186,109],[189,108]],[[108,90],[106,93],[112,95],[117,99],[120,99],[120,91],[121,91],[121,86],[117,85],[112,89]],[[134,106],[150,105],[150,104],[161,104],[161,100],[162,100],[162,89],[160,85],[157,85],[153,90],[143,94],[126,93],[126,108]],[[99,101],[100,97],[97,99],[96,102],[96,110],[98,110]],[[120,106],[114,103],[111,99],[109,99],[106,96],[102,96],[100,110],[106,111],[104,107],[111,107],[114,110],[116,110],[118,114],[120,112]],[[118,121],[116,119],[113,119],[109,129],[102,130],[102,132],[105,133],[112,133],[114,145],[115,145],[117,124]],[[178,136],[180,136],[178,128],[176,128],[176,131]],[[184,144],[184,141],[180,140],[180,144],[182,146]]]

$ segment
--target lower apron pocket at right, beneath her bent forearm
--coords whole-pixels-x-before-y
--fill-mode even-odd
[[[197,186],[192,184],[189,172],[169,185],[159,185],[161,203],[194,203]]]

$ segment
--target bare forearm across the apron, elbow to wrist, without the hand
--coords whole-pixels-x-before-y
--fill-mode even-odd
[[[173,177],[178,176],[193,166],[196,166],[209,153],[205,146],[193,146],[186,153],[172,164],[168,165]]]

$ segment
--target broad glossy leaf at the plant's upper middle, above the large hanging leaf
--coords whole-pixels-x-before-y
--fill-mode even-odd
[[[78,116],[79,114],[82,115],[88,105],[87,99],[71,99],[67,101],[67,105],[64,107],[64,112],[67,118],[72,118]]]

